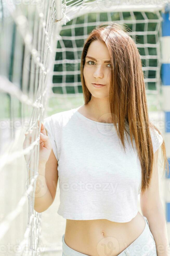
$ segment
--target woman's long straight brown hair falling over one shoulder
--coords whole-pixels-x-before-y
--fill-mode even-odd
[[[104,42],[109,50],[112,67],[109,102],[113,124],[118,137],[121,139],[124,150],[124,131],[127,132],[125,121],[127,121],[129,127],[132,146],[134,136],[141,164],[141,193],[143,193],[150,185],[154,163],[150,128],[157,130],[159,134],[161,133],[149,121],[140,54],[134,40],[126,32],[125,27],[113,22],[102,23],[91,31],[84,42],[81,55],[81,82],[84,104],[86,105],[91,99],[91,93],[85,85],[83,76],[87,50],[90,43],[95,40]],[[113,113],[114,116],[118,117],[118,128]],[[164,155],[164,170],[167,164],[167,173],[169,173],[164,140],[162,142],[162,152]]]

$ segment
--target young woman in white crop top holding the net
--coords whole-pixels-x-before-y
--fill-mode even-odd
[[[149,121],[138,49],[121,25],[89,34],[81,82],[84,104],[41,125],[44,186],[34,209],[53,203],[59,177],[63,256],[169,255],[157,165],[162,144],[165,169],[165,143]]]

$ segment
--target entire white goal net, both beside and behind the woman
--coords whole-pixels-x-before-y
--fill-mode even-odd
[[[58,188],[50,209],[40,214],[33,207],[38,120],[83,104],[81,52],[95,26],[107,21],[125,24],[141,55],[149,113],[162,109],[161,11],[165,5],[165,1],[41,0],[28,5],[1,1],[0,241],[4,250],[0,255],[4,251],[5,255],[40,255],[44,250],[44,255],[62,255],[65,220],[56,214]],[[23,149],[26,129],[36,132]]]

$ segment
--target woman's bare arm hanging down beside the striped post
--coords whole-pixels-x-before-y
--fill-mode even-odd
[[[155,240],[157,255],[169,256],[170,248],[166,219],[159,193],[158,150],[154,153],[151,184],[144,194],[140,194],[140,205],[143,216],[148,219],[149,228]]]

